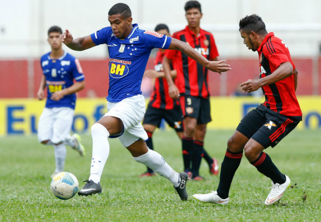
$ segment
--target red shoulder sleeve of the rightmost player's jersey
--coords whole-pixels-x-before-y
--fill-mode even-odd
[[[263,54],[268,58],[270,63],[277,68],[281,63],[290,62],[285,49],[285,46],[281,42],[269,41],[263,47]]]

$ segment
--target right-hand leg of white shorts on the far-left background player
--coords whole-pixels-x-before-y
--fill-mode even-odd
[[[53,122],[52,143],[58,144],[70,139],[74,110],[69,107],[56,108],[56,118]]]

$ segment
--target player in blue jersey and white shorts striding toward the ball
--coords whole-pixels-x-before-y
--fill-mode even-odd
[[[126,4],[114,5],[109,13],[109,27],[73,39],[66,30],[60,36],[69,48],[85,50],[107,44],[109,51],[109,91],[106,113],[91,127],[93,152],[90,177],[78,195],[88,196],[101,192],[100,177],[109,156],[108,137],[118,137],[132,157],[154,172],[170,180],[181,200],[187,200],[186,182],[188,175],[177,173],[157,152],[148,149],[148,136],[141,121],[145,114],[145,99],[141,95],[141,83],[152,48],[178,49],[206,68],[215,72],[229,70],[224,61],[209,62],[188,44],[153,31],[143,31],[132,24],[131,11]]]

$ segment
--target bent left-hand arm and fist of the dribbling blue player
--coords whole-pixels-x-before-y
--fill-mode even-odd
[[[60,40],[69,48],[75,51],[83,51],[85,49],[96,46],[96,44],[91,39],[90,35],[73,39],[68,29],[60,35]]]

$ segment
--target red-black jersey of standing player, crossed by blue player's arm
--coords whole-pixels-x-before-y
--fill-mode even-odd
[[[202,29],[196,36],[189,26],[186,26],[184,30],[174,33],[172,38],[188,43],[207,60],[219,56],[213,35]],[[177,71],[175,85],[180,94],[203,98],[209,96],[207,69],[179,50],[167,50],[165,56],[172,60],[173,68]]]

